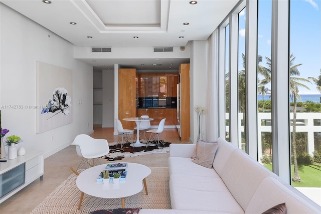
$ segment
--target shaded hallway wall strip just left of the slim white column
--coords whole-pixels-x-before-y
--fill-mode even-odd
[[[116,84],[118,87],[118,84]],[[114,127],[114,71],[102,71],[102,127]]]

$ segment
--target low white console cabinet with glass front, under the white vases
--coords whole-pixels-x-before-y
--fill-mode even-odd
[[[27,152],[13,160],[0,162],[0,203],[44,175],[44,152]]]

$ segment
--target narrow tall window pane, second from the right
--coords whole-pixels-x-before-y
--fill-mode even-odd
[[[257,20],[257,140],[258,161],[272,170],[271,105],[272,1],[258,1]]]

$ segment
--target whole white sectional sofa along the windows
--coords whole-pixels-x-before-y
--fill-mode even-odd
[[[321,213],[321,207],[246,153],[219,138],[213,168],[192,162],[196,144],[171,144],[170,210],[144,213],[262,213],[284,203],[286,213]]]

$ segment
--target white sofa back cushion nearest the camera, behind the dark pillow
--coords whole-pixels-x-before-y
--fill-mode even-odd
[[[262,213],[275,204],[283,202],[286,204],[287,213],[319,213],[316,207],[304,201],[299,194],[300,192],[292,186],[286,187],[277,179],[266,177],[256,189],[245,213]]]

